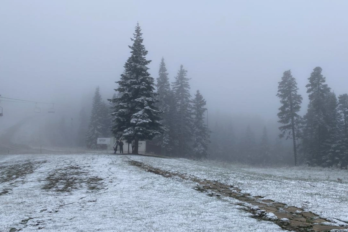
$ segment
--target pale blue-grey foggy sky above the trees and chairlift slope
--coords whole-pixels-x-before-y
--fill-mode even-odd
[[[41,105],[38,116],[34,103],[1,98],[0,134],[30,117],[73,118],[77,128],[97,86],[104,99],[112,97],[137,22],[152,77],[162,57],[171,81],[183,64],[192,95],[199,89],[207,101],[211,125],[217,115],[233,115],[243,128],[262,122],[278,133],[276,93],[285,70],[298,82],[302,114],[316,66],[337,95],[347,93],[347,9],[344,0],[2,1],[0,94],[55,103],[56,113]]]

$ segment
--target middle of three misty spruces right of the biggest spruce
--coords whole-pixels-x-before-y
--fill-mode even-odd
[[[192,141],[190,79],[186,76],[187,71],[180,65],[180,70],[173,83],[174,102],[177,112],[174,127],[177,129],[179,142],[177,152],[181,157],[190,156],[192,153],[192,148],[190,147],[190,142]]]

